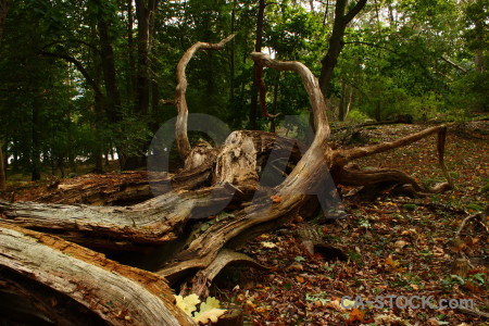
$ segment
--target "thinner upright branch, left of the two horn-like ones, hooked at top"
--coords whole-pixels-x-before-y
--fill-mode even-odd
[[[177,149],[180,156],[185,160],[190,153],[191,147],[187,137],[187,120],[188,120],[188,106],[185,93],[187,91],[187,77],[185,70],[187,64],[192,59],[193,54],[199,50],[221,50],[224,46],[230,41],[235,35],[229,35],[218,43],[197,42],[191,46],[185,54],[181,57],[177,65],[177,87],[175,89],[175,105],[178,110],[178,116],[175,125],[175,136],[177,141]]]

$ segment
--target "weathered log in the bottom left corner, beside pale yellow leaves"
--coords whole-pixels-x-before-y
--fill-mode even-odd
[[[11,290],[40,284],[110,325],[193,325],[175,306],[164,278],[121,265],[54,236],[0,224],[0,278]],[[4,280],[11,274],[18,277]],[[17,294],[29,296],[30,291]],[[36,309],[47,319],[60,325],[83,325],[82,321],[66,323],[66,316],[55,313],[66,304],[60,300],[61,296],[51,300],[49,297],[28,299],[37,303]]]

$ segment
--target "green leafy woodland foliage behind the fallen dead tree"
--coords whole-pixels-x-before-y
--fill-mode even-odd
[[[326,13],[324,3],[317,2],[314,11],[301,3],[267,4],[262,50],[301,61],[319,75],[334,8]],[[184,51],[231,32],[236,37],[225,50],[199,51],[189,63],[187,102],[190,112],[243,128],[254,74],[248,54],[254,48],[256,12],[256,1],[161,2],[148,53],[140,57],[136,8],[129,28],[126,2],[11,1],[0,43],[0,137],[14,158],[12,167],[28,172],[36,158],[50,167],[77,160],[95,163],[112,150],[146,155],[152,135],[176,114],[160,100],[174,97],[175,66]],[[348,104],[350,123],[399,114],[416,121],[464,121],[473,112],[488,112],[487,20],[487,0],[369,2],[347,28],[326,93],[331,111]],[[102,54],[108,47],[113,67]],[[141,62],[148,64],[150,84],[147,112],[138,109]],[[268,111],[280,113],[277,129],[308,139],[310,103],[300,77],[265,70],[264,80]],[[284,123],[287,115],[299,117]],[[271,128],[268,118],[260,117],[258,125]]]

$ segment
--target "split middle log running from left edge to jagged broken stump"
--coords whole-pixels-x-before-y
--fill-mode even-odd
[[[252,164],[253,168],[261,168],[272,150],[274,158],[296,162],[302,148],[291,139],[277,137],[271,133],[235,131],[230,139],[230,143],[234,142],[233,139],[241,139],[249,145],[256,162]],[[225,147],[218,160],[234,162],[241,158],[242,155],[237,154],[237,148],[231,150]],[[166,193],[131,206],[0,201],[0,212],[7,215],[5,223],[45,231],[52,230],[60,237],[90,248],[118,251],[133,250],[134,243],[162,244],[176,240],[188,221],[209,217],[226,206],[236,208],[243,200],[251,200],[258,183],[248,185],[246,191],[237,188],[240,186],[229,186],[236,176],[244,171],[239,164],[224,167],[225,164],[222,163],[222,167],[218,168],[221,173],[214,176],[216,180],[212,187],[184,190],[185,187],[192,188],[196,184],[210,179],[211,167],[216,160],[215,158],[208,160],[198,167],[172,176],[171,179],[159,179],[159,190]],[[89,189],[93,190],[95,185],[89,184]],[[242,188],[244,190],[244,187]]]

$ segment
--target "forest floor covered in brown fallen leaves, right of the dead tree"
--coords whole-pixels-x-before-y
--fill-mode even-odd
[[[372,145],[425,127],[371,127],[361,131],[361,139]],[[437,306],[441,299],[472,299],[474,310],[489,314],[488,230],[471,222],[462,240],[454,241],[462,221],[489,204],[489,123],[451,129],[446,161],[455,190],[426,198],[385,193],[373,201],[346,200],[347,218],[318,225],[325,241],[341,248],[342,260],[310,254],[293,234],[264,234],[243,252],[272,269],[228,267],[217,277],[212,294],[224,303],[243,306],[246,325],[489,325],[487,315]],[[358,163],[399,168],[422,184],[443,180],[435,137]],[[46,184],[32,185],[17,192],[15,200],[30,200],[43,191]],[[484,222],[487,226],[488,221]],[[312,223],[296,218],[284,228],[294,230]],[[466,277],[452,275],[452,262],[461,254],[472,264]],[[352,301],[361,296],[364,306],[342,308],[344,296]],[[366,302],[377,296],[385,299],[383,309],[378,302]],[[389,306],[387,296],[431,297],[434,306]]]

